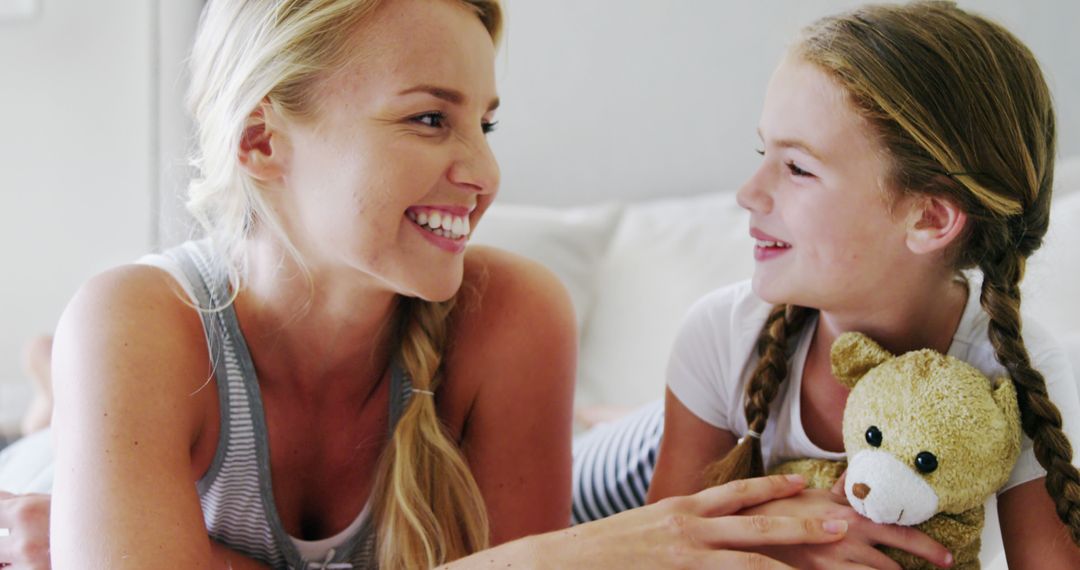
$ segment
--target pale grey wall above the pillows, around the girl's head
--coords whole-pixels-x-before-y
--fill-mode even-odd
[[[572,204],[728,190],[795,32],[852,0],[509,0],[498,67],[500,200]],[[1080,153],[1080,2],[967,0],[1028,43]]]

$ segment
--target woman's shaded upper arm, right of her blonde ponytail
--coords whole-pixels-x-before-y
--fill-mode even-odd
[[[565,288],[546,269],[472,248],[456,309],[454,378],[475,384],[461,446],[484,494],[491,543],[565,528],[577,332]]]

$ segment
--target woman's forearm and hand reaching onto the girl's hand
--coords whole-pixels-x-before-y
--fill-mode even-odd
[[[735,516],[804,488],[801,477],[772,476],[673,497],[616,516],[537,537],[542,568],[789,568],[740,548],[827,544],[847,524],[829,517]]]

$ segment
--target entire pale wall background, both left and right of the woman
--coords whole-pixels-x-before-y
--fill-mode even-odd
[[[0,428],[19,351],[78,285],[183,226],[183,81],[200,0],[39,0],[0,21]],[[575,204],[734,188],[756,163],[769,73],[851,0],[507,0],[492,144],[501,201]],[[969,0],[1040,57],[1061,148],[1080,154],[1080,2]],[[156,40],[156,24],[162,28]],[[160,136],[159,136],[160,135]],[[159,193],[160,192],[160,193]]]

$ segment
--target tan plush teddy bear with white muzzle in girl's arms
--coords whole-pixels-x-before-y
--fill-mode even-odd
[[[772,473],[800,473],[843,491],[875,522],[915,526],[953,553],[955,569],[977,569],[983,504],[1009,479],[1020,454],[1016,390],[932,350],[890,354],[860,332],[832,347],[833,375],[851,388],[843,410],[847,462],[788,461]],[[882,548],[906,569],[936,568]]]

